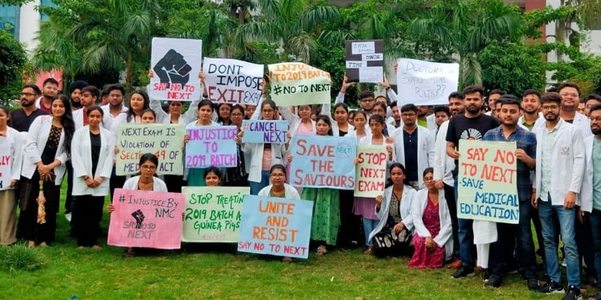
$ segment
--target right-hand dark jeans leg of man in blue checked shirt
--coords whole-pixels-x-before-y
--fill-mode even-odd
[[[520,218],[516,234],[518,255],[516,256],[518,258],[519,266],[523,269],[524,277],[527,279],[535,279],[537,278],[536,255],[532,237],[532,227],[530,226],[530,220],[532,220],[533,216],[535,216],[533,215],[533,213],[535,213],[535,209],[530,204],[530,200],[520,201],[519,205]]]

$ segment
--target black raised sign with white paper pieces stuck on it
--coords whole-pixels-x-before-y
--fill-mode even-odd
[[[345,60],[348,82],[384,80],[384,40],[347,40]]]

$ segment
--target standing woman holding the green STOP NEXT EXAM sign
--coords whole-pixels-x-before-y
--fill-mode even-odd
[[[391,147],[393,141],[391,137],[385,137],[382,134],[383,128],[384,118],[376,114],[373,115],[370,118],[371,135],[361,138],[361,140],[359,140],[359,144],[386,145],[386,151],[388,151],[388,160],[386,161],[386,166],[389,167],[396,160],[396,156],[393,147]],[[355,165],[357,164],[357,159],[355,159],[354,163]],[[382,182],[385,178],[386,177],[382,178]],[[375,215],[374,211],[375,204],[375,198],[355,197],[353,205],[353,213],[356,216],[361,216],[363,219],[363,229],[365,230],[365,246],[367,246],[367,249],[363,251],[363,254],[365,255],[373,254],[373,242],[370,239],[370,233],[379,223],[379,219]]]

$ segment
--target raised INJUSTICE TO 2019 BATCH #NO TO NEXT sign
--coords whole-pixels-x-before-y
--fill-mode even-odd
[[[330,103],[330,73],[305,63],[275,63],[271,73],[271,100],[277,106]]]

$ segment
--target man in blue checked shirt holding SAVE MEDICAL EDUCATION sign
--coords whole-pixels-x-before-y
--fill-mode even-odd
[[[528,289],[538,287],[536,256],[530,227],[530,206],[532,183],[530,170],[536,167],[536,136],[528,130],[517,125],[520,113],[519,102],[513,95],[505,95],[498,99],[501,110],[498,114],[501,126],[488,130],[484,135],[485,141],[515,142],[517,189],[519,198],[519,225],[497,223],[498,239],[491,245],[489,260],[490,278],[484,284],[490,287],[500,287],[502,277],[505,275],[504,266],[509,265],[513,259],[514,241],[519,253],[519,265],[523,269],[522,275],[528,280]]]

